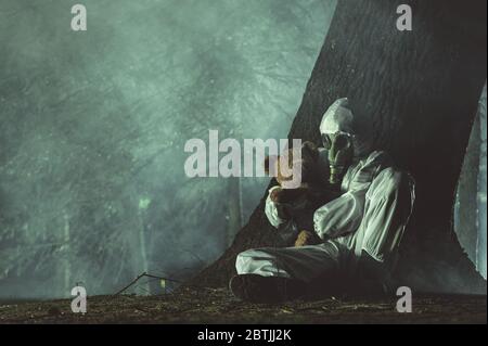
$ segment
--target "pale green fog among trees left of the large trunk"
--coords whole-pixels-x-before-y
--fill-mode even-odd
[[[110,294],[216,259],[268,179],[189,179],[184,142],[286,138],[334,7],[2,0],[0,297]]]

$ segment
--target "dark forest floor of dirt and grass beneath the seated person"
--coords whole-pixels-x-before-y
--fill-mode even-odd
[[[182,289],[158,296],[88,297],[87,313],[70,300],[0,304],[1,323],[486,323],[486,295],[413,296],[412,312],[394,298],[328,298],[256,305],[224,289]]]

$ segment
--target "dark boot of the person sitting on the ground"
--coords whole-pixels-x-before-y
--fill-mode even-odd
[[[306,294],[303,281],[258,274],[235,275],[229,289],[237,298],[251,303],[282,303]]]

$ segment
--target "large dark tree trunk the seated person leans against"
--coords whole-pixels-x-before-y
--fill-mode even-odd
[[[401,3],[413,10],[412,31],[397,30]],[[323,112],[344,97],[374,125],[376,148],[416,179],[399,269],[421,290],[483,290],[453,233],[452,207],[485,79],[485,0],[342,0],[290,132],[319,143]],[[272,245],[274,234],[262,200],[232,246],[192,282],[224,285],[235,255]]]

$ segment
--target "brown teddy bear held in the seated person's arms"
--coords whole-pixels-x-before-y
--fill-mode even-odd
[[[265,171],[269,175],[273,168],[274,178],[278,188],[270,192],[270,200],[277,203],[278,214],[281,218],[293,220],[299,232],[295,238],[295,246],[319,244],[320,238],[313,231],[313,213],[317,208],[329,202],[328,193],[328,172],[324,171],[328,166],[319,164],[319,149],[312,142],[304,142],[301,148],[301,157],[294,157],[295,149],[288,149],[282,155],[275,157],[266,157]],[[284,181],[293,179],[293,175],[284,175],[280,167],[281,159],[287,159],[288,167],[300,165],[301,183],[295,189],[283,187]],[[286,161],[284,161],[286,162]],[[270,165],[275,165],[270,167]]]

